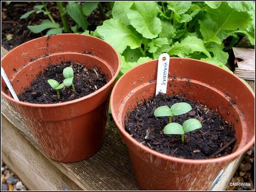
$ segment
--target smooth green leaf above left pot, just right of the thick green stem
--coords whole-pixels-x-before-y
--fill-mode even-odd
[[[78,3],[67,4],[66,11],[68,15],[80,26],[83,30],[87,29],[88,21],[86,20],[82,7]]]

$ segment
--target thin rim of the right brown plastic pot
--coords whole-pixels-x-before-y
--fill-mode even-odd
[[[200,61],[200,62],[203,62],[203,63],[205,63],[207,65],[213,65],[213,67],[221,68],[221,67],[219,67],[219,66],[217,66],[215,64],[204,62],[203,60],[198,60],[198,59],[178,58],[178,57],[173,57],[173,58],[170,58],[170,59],[196,60],[197,62]],[[158,59],[154,59],[154,60],[150,60],[149,62],[157,62],[157,60]],[[209,164],[209,163],[219,163],[221,161],[233,160],[233,159],[237,158],[239,155],[242,155],[245,151],[247,151],[250,148],[250,146],[253,145],[254,137],[246,145],[244,145],[244,147],[242,149],[234,151],[233,153],[225,155],[225,156],[220,156],[218,158],[211,158],[211,159],[184,159],[184,158],[177,158],[177,157],[174,157],[174,156],[170,156],[170,155],[166,155],[166,154],[163,154],[163,153],[159,153],[159,152],[157,152],[157,151],[155,151],[153,149],[150,149],[147,146],[141,145],[139,142],[137,142],[137,140],[135,138],[131,137],[131,135],[126,132],[125,128],[122,127],[122,125],[120,124],[119,120],[117,119],[117,114],[115,114],[115,110],[114,110],[113,100],[114,100],[115,90],[116,90],[119,82],[125,77],[125,75],[128,75],[132,70],[136,70],[137,68],[141,67],[141,65],[146,65],[147,63],[148,62],[139,64],[136,67],[130,69],[124,75],[122,75],[122,77],[119,80],[117,80],[114,88],[112,89],[112,93],[111,93],[111,97],[110,97],[110,107],[111,107],[111,113],[112,113],[112,117],[114,119],[114,122],[116,123],[117,128],[119,129],[121,134],[124,135],[124,137],[126,139],[128,139],[130,142],[132,142],[132,144],[136,145],[137,147],[139,147],[140,149],[146,151],[147,153],[150,153],[150,154],[152,154],[154,156],[157,156],[158,158],[162,158],[164,160],[169,160],[169,161],[176,161],[178,163],[183,163],[183,164]],[[227,75],[233,75],[235,78],[240,80],[240,78],[238,78],[233,73],[230,73],[230,72],[228,72],[227,70],[225,70],[223,68],[221,68],[221,69],[224,70],[225,73],[227,73]],[[242,82],[246,86],[246,88],[250,90],[250,93],[252,93],[253,96],[254,96],[253,90],[250,89],[242,80],[240,80],[240,82]]]

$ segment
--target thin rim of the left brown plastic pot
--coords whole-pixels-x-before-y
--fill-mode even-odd
[[[28,103],[28,102],[21,102],[20,100],[15,100],[13,99],[12,97],[10,97],[9,95],[7,95],[6,93],[3,92],[3,90],[1,89],[1,93],[2,95],[7,98],[8,100],[10,100],[11,102],[14,102],[14,103],[17,103],[17,104],[20,104],[20,105],[23,105],[23,106],[26,106],[26,107],[35,107],[35,108],[50,108],[50,107],[61,107],[63,105],[69,105],[69,104],[74,104],[74,103],[78,103],[78,102],[81,102],[82,100],[86,100],[88,98],[91,98],[97,94],[99,94],[100,92],[102,92],[102,90],[106,89],[107,87],[109,87],[116,79],[117,75],[119,74],[119,71],[120,71],[120,68],[121,68],[121,62],[120,62],[120,57],[119,57],[119,53],[117,53],[116,49],[111,46],[111,44],[107,43],[106,41],[103,41],[102,39],[100,38],[97,38],[97,37],[93,37],[93,36],[88,36],[88,35],[85,35],[85,34],[74,34],[74,33],[63,33],[63,34],[53,34],[51,36],[87,36],[87,37],[90,37],[92,39],[97,39],[98,41],[101,41],[101,42],[104,42],[106,44],[108,44],[113,50],[114,52],[116,53],[117,55],[117,59],[118,59],[118,67],[117,67],[117,70],[116,70],[116,73],[115,75],[111,78],[111,80],[109,82],[107,82],[103,87],[101,87],[100,89],[96,90],[95,92],[91,93],[91,94],[88,94],[86,96],[83,96],[81,98],[78,98],[78,99],[74,99],[74,100],[70,100],[68,102],[62,102],[62,103],[53,103],[53,104],[36,104],[36,103]],[[39,38],[35,38],[35,39],[32,39],[30,41],[27,41],[25,43],[22,43],[20,44],[19,46],[15,47],[14,49],[12,49],[10,52],[8,53],[11,53],[13,50],[15,49],[18,49],[19,47],[21,46],[24,46],[25,44],[27,43],[31,43],[33,41],[37,41],[38,39],[42,39],[42,38],[47,38],[48,36],[43,36],[43,37],[39,37]],[[8,54],[7,53],[7,54]],[[7,55],[6,54],[6,55]],[[4,55],[4,57],[2,58],[2,60],[6,57],[6,55]]]

